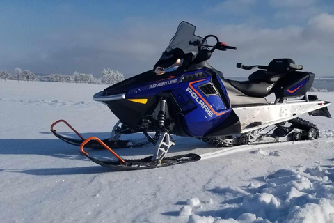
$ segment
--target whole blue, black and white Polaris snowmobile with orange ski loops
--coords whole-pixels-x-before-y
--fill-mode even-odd
[[[66,123],[81,140],[56,137],[80,146],[80,151],[93,162],[112,169],[149,169],[200,160],[200,155],[165,157],[175,144],[172,134],[195,137],[214,146],[267,144],[281,141],[317,139],[317,126],[299,118],[302,114],[326,116],[330,102],[308,95],[315,74],[302,72],[302,65],[292,59],[273,59],[268,66],[237,68],[257,69],[248,81],[225,79],[207,62],[216,51],[235,50],[217,36],[195,35],[195,26],[181,22],[175,36],[152,70],[143,72],[96,93],[93,99],[111,109],[120,121],[111,137],[84,139]],[[208,45],[212,38],[214,45]],[[273,93],[274,102],[266,97]],[[122,134],[142,132],[145,140],[120,140]],[[155,134],[149,134],[155,132]],[[113,148],[154,145],[150,157],[126,160]],[[97,160],[84,148],[106,148],[118,160]]]

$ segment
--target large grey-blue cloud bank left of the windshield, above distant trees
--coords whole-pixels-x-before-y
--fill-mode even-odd
[[[13,58],[6,61],[9,66],[35,72],[71,74],[77,70],[98,76],[103,68],[113,68],[135,75],[152,69],[173,37],[175,27],[128,19],[118,29],[53,31],[38,40],[33,49],[18,48]],[[2,55],[0,52],[0,58]]]

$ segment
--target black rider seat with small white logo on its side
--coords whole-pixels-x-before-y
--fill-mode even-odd
[[[257,80],[251,80],[246,82],[237,82],[228,80],[234,88],[238,89],[245,95],[250,97],[263,98],[270,95],[273,91],[273,84],[267,82],[261,82]]]

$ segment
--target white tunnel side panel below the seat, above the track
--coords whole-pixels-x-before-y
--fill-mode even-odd
[[[331,102],[325,101],[291,102],[253,107],[238,107],[234,108],[233,111],[239,117],[242,134],[261,129],[269,125],[289,121],[293,118],[301,116],[302,114],[310,112],[315,114],[314,111],[324,109],[329,105],[331,105]],[[321,114],[323,113],[324,112],[321,112]]]

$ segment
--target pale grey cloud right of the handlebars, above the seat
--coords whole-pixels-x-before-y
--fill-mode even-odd
[[[214,52],[211,61],[226,76],[249,75],[235,68],[236,63],[268,64],[274,58],[292,58],[304,65],[304,70],[319,75],[334,75],[326,64],[333,63],[334,15],[320,14],[310,18],[305,26],[263,29],[245,24],[222,25],[217,36],[237,52]],[[223,38],[222,38],[223,37]]]

